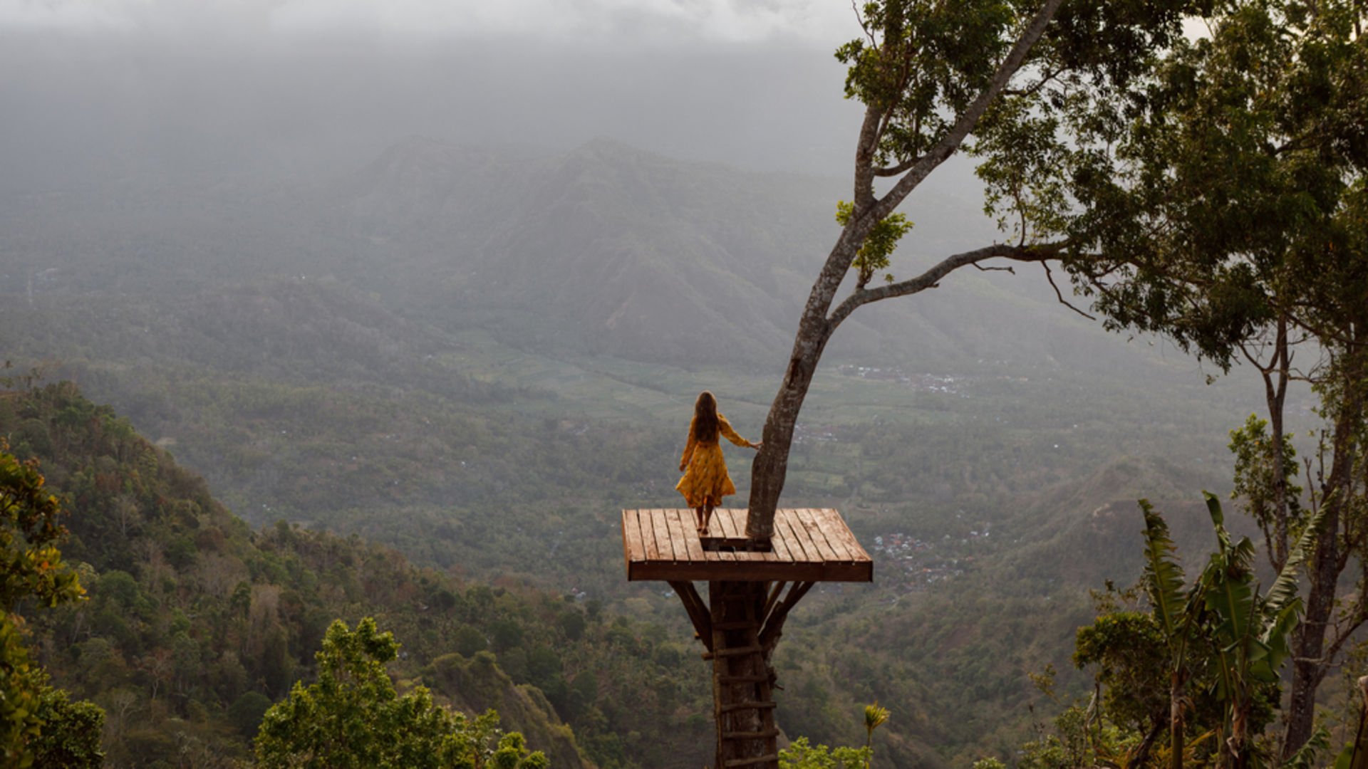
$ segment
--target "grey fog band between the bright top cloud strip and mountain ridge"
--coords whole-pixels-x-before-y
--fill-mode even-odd
[[[554,149],[603,135],[685,159],[834,172],[859,116],[829,52],[792,44],[5,38],[8,189],[315,172],[410,134]]]

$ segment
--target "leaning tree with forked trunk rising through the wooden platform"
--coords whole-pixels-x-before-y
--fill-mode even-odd
[[[932,3],[873,0],[860,7],[865,36],[836,56],[848,66],[845,94],[865,104],[855,146],[854,200],[837,209],[841,233],[832,246],[799,320],[782,383],[765,421],[763,447],[752,465],[747,535],[767,540],[788,472],[798,412],[826,342],[858,308],[936,287],[951,272],[990,259],[1045,263],[1067,248],[1056,234],[1060,183],[1042,186],[1033,167],[1048,163],[1041,131],[1063,130],[1066,109],[1101,115],[1135,94],[1153,52],[1182,38],[1182,18],[1201,3],[1062,0],[1036,3]],[[1086,94],[1081,99],[1078,94]],[[1089,109],[1081,109],[1086,104]],[[1070,129],[1077,130],[1071,126]],[[978,141],[966,145],[970,135]],[[941,163],[964,149],[988,157],[990,200],[1021,204],[1015,242],[952,255],[907,279],[874,272],[910,224],[895,209]],[[892,179],[882,194],[876,181]],[[1053,177],[1041,175],[1042,181]],[[1048,215],[1047,215],[1048,213]],[[1025,216],[1030,216],[1027,220]],[[855,270],[854,290],[836,296]]]

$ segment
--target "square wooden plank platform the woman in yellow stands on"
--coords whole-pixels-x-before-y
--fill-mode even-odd
[[[746,510],[713,513],[709,539],[694,531],[694,510],[622,510],[628,580],[873,582],[874,562],[833,509],[781,508],[773,551],[709,550],[746,538]]]

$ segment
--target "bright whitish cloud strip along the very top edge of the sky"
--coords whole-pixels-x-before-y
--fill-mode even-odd
[[[220,40],[538,38],[629,45],[806,42],[852,29],[848,3],[824,0],[4,0],[0,27],[83,33],[212,33]],[[844,27],[844,29],[843,29]]]

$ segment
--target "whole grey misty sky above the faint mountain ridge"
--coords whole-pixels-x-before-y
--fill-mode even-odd
[[[354,168],[409,135],[845,175],[845,0],[0,0],[0,189]]]

